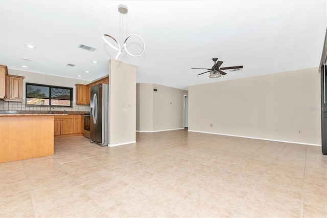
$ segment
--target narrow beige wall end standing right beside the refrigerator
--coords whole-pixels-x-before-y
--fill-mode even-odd
[[[109,60],[109,146],[136,140],[136,67]]]

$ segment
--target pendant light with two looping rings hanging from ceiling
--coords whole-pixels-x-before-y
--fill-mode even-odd
[[[120,15],[120,42],[118,42],[114,37],[112,37],[111,35],[108,35],[108,34],[103,34],[102,35],[102,38],[103,40],[111,47],[113,48],[114,50],[118,51],[115,59],[117,60],[119,58],[119,56],[122,54],[122,52],[125,50],[127,52],[127,54],[129,54],[130,56],[133,56],[133,57],[138,57],[138,56],[141,56],[143,53],[144,53],[144,50],[145,50],[145,43],[143,41],[143,39],[141,38],[141,36],[139,35],[136,35],[136,34],[130,34],[129,36],[127,36],[123,42],[123,47],[121,47],[121,39],[124,38],[124,31],[123,31],[123,24],[122,24],[122,20],[123,20],[123,16],[127,16],[127,12],[128,12],[128,8],[126,5],[119,5],[118,6],[118,11],[119,13],[121,14]],[[127,32],[127,21],[126,22],[126,31],[125,31],[125,34]],[[113,46],[107,39],[106,37],[109,37],[111,38],[114,42],[116,42],[117,44],[117,47]],[[137,37],[139,39],[141,39],[142,43],[143,43],[143,49],[142,49],[142,52],[139,53],[139,54],[132,54],[130,53],[128,50],[127,50],[127,46],[126,46],[126,43],[127,43],[127,40],[131,37]]]

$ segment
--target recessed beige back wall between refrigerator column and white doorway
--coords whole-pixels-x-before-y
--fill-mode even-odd
[[[138,83],[140,132],[183,128],[184,95],[188,91],[152,83]],[[154,92],[153,89],[157,89]]]

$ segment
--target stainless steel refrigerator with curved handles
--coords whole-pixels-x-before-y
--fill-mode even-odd
[[[101,146],[108,145],[108,85],[91,86],[90,140]]]

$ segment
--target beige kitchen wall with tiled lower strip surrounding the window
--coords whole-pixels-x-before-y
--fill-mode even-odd
[[[73,88],[73,108],[67,107],[55,107],[55,111],[89,111],[88,105],[76,105],[76,89],[75,84],[88,84],[90,81],[80,80],[80,79],[72,79],[72,78],[65,78],[59,76],[52,76],[47,74],[39,74],[39,73],[32,73],[28,71],[20,71],[20,70],[13,70],[8,69],[9,75],[16,75],[16,76],[24,76],[23,85],[22,85],[22,97],[23,102],[8,102],[8,101],[1,101],[0,100],[0,110],[22,110],[22,111],[48,111],[49,107],[26,107],[25,106],[25,99],[26,99],[26,82],[30,83],[38,83],[38,84],[46,84],[46,85],[58,85],[58,86],[65,86],[69,88]]]

